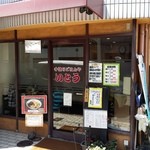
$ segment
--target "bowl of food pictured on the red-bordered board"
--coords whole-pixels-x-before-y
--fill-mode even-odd
[[[30,99],[26,102],[26,106],[29,109],[39,109],[42,106],[42,103],[38,99]]]

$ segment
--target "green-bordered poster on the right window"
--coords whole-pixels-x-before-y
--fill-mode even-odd
[[[120,64],[105,63],[103,64],[103,85],[119,86],[120,84]]]

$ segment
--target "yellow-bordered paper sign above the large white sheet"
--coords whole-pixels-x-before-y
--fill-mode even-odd
[[[102,108],[102,88],[89,88],[89,108]]]

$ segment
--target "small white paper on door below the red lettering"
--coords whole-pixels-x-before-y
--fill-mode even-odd
[[[72,93],[64,93],[63,94],[63,105],[64,106],[72,106]]]

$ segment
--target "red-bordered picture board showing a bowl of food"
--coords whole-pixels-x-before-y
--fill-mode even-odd
[[[47,95],[21,96],[22,114],[46,114]]]

